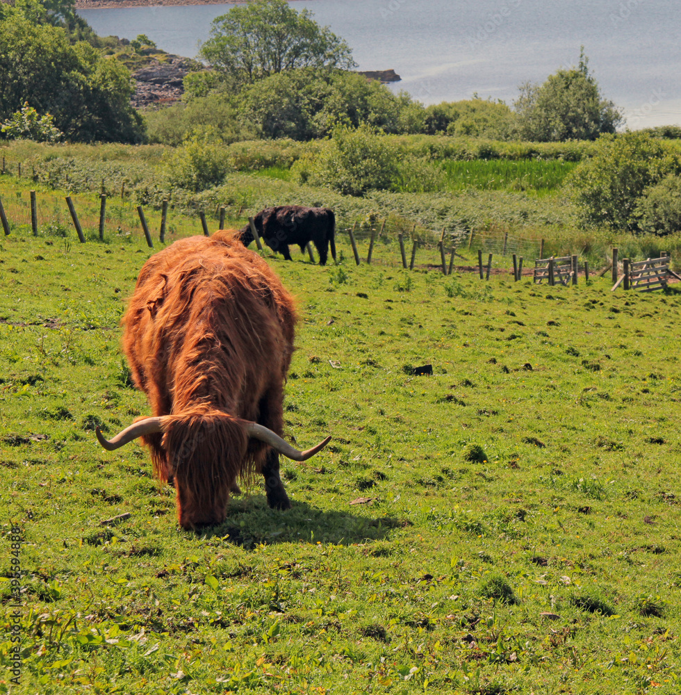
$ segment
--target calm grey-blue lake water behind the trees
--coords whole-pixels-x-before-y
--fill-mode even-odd
[[[681,125],[678,0],[295,0],[353,51],[358,70],[393,68],[424,104],[518,97],[579,62],[580,46],[602,95],[627,126]],[[147,34],[159,48],[195,57],[211,22],[233,4],[79,10],[100,35]]]

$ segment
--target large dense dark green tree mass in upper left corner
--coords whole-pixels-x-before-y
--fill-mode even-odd
[[[138,142],[143,129],[132,92],[126,67],[88,43],[72,46],[64,28],[16,11],[0,19],[0,121],[28,101],[53,115],[69,140]]]

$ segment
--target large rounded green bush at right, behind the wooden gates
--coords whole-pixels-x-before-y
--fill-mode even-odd
[[[606,135],[596,143],[596,154],[568,174],[566,186],[582,224],[637,231],[636,210],[646,189],[680,172],[678,155],[667,154],[659,140],[642,133]]]

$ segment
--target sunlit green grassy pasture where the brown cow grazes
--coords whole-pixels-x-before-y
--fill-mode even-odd
[[[0,692],[678,692],[680,295],[342,250],[269,259],[301,317],[288,433],[334,440],[284,462],[293,509],[252,483],[196,535],[93,432],[148,412],[118,322],[150,250],[0,239]]]

